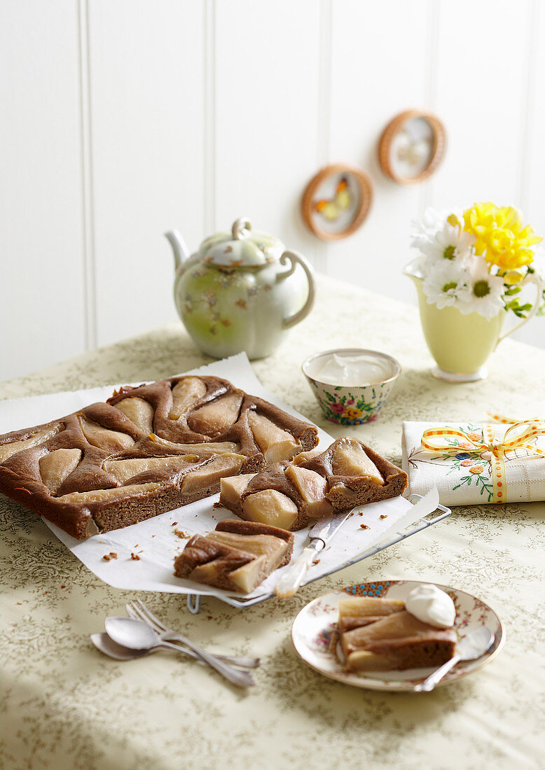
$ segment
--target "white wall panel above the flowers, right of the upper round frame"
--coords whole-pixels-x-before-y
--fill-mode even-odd
[[[516,203],[520,192],[529,0],[441,2],[437,112],[449,148],[434,203]]]

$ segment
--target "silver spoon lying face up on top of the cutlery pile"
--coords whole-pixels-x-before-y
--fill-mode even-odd
[[[172,644],[170,641],[162,641],[160,636],[155,631],[152,631],[150,626],[143,623],[143,621],[136,621],[132,618],[106,618],[104,626],[109,638],[121,647],[140,652],[144,651],[144,654],[158,649],[187,654],[187,650],[183,650],[177,644]],[[215,655],[201,650],[192,642],[188,646],[190,646],[195,657],[207,663],[210,668],[214,668],[218,674],[223,675],[233,685],[238,687],[253,687],[255,685],[249,671],[239,671],[237,668],[232,668],[232,666],[227,665],[227,663]]]

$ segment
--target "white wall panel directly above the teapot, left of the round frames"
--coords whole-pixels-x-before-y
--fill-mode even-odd
[[[311,260],[300,200],[318,163],[315,0],[216,5],[216,226],[250,216]]]

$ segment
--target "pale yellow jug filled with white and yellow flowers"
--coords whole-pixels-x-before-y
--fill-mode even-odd
[[[415,223],[412,246],[419,256],[405,267],[419,295],[426,343],[436,377],[473,382],[497,343],[537,313],[545,313],[542,239],[523,226],[512,207],[476,203],[460,212],[428,209]],[[533,283],[535,299],[522,297]],[[507,313],[520,319],[502,333]]]

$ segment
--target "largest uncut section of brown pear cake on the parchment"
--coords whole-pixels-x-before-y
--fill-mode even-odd
[[[0,492],[79,539],[136,524],[318,443],[311,423],[219,377],[122,387],[0,436]]]

